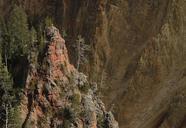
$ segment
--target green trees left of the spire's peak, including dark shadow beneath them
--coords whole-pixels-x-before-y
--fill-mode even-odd
[[[47,17],[45,21],[36,22],[34,18],[28,21],[28,16],[21,6],[14,4],[10,7],[9,15],[0,17],[0,53],[13,77],[14,87],[20,88],[25,83],[28,64],[36,64],[44,56],[44,29],[52,24],[52,20]],[[30,58],[31,56],[33,58]]]

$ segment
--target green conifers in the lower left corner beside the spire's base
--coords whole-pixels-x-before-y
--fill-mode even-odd
[[[13,80],[2,63],[0,55],[0,121],[6,128],[19,128],[18,109],[15,107],[15,94],[13,89]],[[15,108],[14,108],[15,107]],[[16,117],[16,118],[15,118]]]

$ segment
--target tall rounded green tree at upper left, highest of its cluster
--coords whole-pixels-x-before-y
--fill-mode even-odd
[[[11,55],[27,55],[31,46],[27,15],[23,8],[15,5],[8,22]]]

